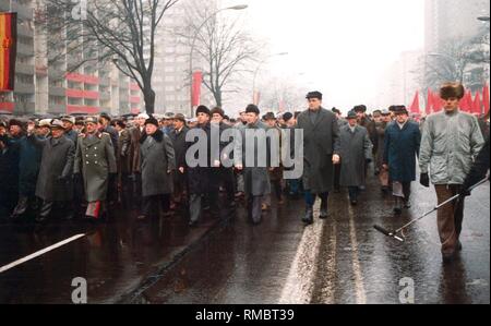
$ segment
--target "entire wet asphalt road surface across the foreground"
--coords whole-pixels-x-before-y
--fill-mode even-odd
[[[373,229],[397,228],[431,209],[434,191],[415,183],[411,202],[395,217],[371,177],[357,207],[346,193],[332,194],[330,218],[307,228],[301,200],[274,202],[258,227],[247,222],[243,207],[223,212],[226,222],[207,219],[193,230],[181,216],[142,224],[132,210],[99,226],[1,225],[0,266],[87,236],[0,274],[0,303],[71,303],[72,279],[84,277],[89,303],[398,304],[399,281],[409,278],[415,303],[489,304],[489,184],[466,202],[464,251],[452,265],[442,264],[434,214],[408,232],[405,244]]]

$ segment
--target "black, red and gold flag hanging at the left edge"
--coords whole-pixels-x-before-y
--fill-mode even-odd
[[[17,14],[0,13],[0,90],[13,90],[17,47]]]

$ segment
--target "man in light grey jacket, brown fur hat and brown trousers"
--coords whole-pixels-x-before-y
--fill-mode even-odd
[[[448,83],[440,90],[444,110],[428,117],[421,141],[420,182],[436,190],[439,204],[463,191],[466,176],[484,145],[477,119],[459,110],[464,86]],[[451,262],[462,250],[459,241],[464,219],[464,198],[442,207],[438,227],[444,262]]]

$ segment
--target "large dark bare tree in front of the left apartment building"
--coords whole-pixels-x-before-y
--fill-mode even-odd
[[[154,113],[155,36],[164,15],[178,1],[46,0],[37,23],[50,35],[50,62],[70,57],[69,71],[112,62],[139,84],[147,113]]]

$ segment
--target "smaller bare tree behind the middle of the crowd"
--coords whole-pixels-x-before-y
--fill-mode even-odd
[[[248,63],[256,60],[262,45],[240,28],[239,19],[218,19],[209,2],[199,3],[188,7],[189,21],[181,36],[189,46],[195,38],[194,51],[204,65],[203,83],[220,107],[224,94],[241,90],[244,75],[251,73]]]

